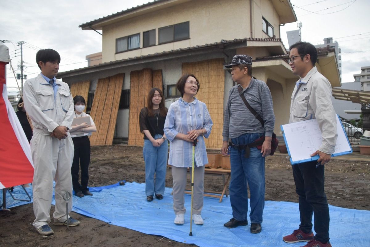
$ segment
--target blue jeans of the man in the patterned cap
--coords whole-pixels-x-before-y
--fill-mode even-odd
[[[235,145],[252,143],[262,133],[242,134],[232,138]],[[246,220],[248,213],[248,185],[250,191],[250,222],[262,223],[265,207],[265,158],[261,150],[250,148],[249,158],[244,150],[230,149],[231,181],[229,186],[232,214],[236,220]],[[247,184],[248,182],[248,184]]]

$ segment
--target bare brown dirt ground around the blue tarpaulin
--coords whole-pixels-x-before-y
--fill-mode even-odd
[[[370,210],[370,161],[335,159],[326,166],[326,194],[329,204],[345,208]],[[142,148],[129,146],[92,147],[89,186],[105,186],[120,180],[144,183]],[[171,171],[167,170],[166,187],[172,187]],[[221,177],[205,176],[205,190],[222,188]],[[143,195],[144,197],[144,195]],[[266,200],[297,202],[292,168],[282,155],[266,158]],[[54,207],[51,208],[51,215]],[[1,247],[169,247],[185,244],[147,235],[124,227],[111,226],[100,220],[71,213],[81,221],[67,230],[53,226],[54,235],[41,237],[34,227],[32,204],[0,211]],[[51,219],[53,221],[53,219]],[[223,224],[223,222],[220,222]]]

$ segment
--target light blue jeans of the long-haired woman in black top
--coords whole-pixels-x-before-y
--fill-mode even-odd
[[[154,139],[161,137],[162,135],[156,134]],[[145,194],[146,196],[153,196],[153,193],[163,195],[166,182],[167,140],[161,146],[154,147],[150,140],[145,139],[142,153],[145,161]]]

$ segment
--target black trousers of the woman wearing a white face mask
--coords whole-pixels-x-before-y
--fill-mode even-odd
[[[90,164],[90,140],[88,136],[73,137],[74,157],[71,168],[72,186],[75,193],[88,191],[89,164]],[[78,181],[78,170],[81,164],[81,184]]]

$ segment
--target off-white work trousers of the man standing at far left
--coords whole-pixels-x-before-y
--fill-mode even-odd
[[[66,202],[63,194],[72,194],[71,166],[73,143],[70,134],[58,140],[33,131],[31,139],[32,160],[35,166],[33,175],[33,226],[39,228],[50,223],[50,207],[53,198],[53,180],[55,181],[54,222],[66,220]],[[72,208],[72,197],[68,200],[68,212]]]

